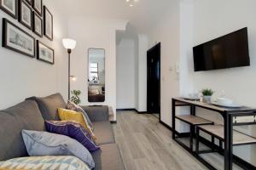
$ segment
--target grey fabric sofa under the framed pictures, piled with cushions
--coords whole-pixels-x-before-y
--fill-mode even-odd
[[[44,120],[60,120],[57,109],[66,108],[61,94],[45,98],[32,97],[24,102],[0,111],[0,161],[27,156],[21,130],[44,131]],[[113,129],[108,121],[107,106],[83,106],[94,126],[101,150],[92,153],[95,170],[125,169],[115,144]]]

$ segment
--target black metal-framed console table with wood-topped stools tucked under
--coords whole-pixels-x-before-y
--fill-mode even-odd
[[[176,115],[176,107],[182,107],[182,106],[189,106],[190,107],[190,117],[189,116],[177,116]],[[218,112],[221,116],[224,118],[224,126],[223,130],[224,137],[218,137],[218,133],[212,133],[207,132],[207,127],[214,127],[213,122],[209,122],[205,119],[202,119],[201,117],[195,116],[195,108],[200,107],[206,110],[215,111]],[[241,120],[241,117],[247,117],[247,120]],[[185,144],[181,143],[177,140],[178,133],[176,131],[176,119],[189,123],[190,125],[190,147],[186,146]],[[207,124],[207,125],[206,125]],[[212,124],[212,125],[211,125]],[[201,161],[204,165],[206,165],[209,169],[216,169],[215,167],[212,167],[210,163],[205,161],[201,156],[199,156],[198,148],[196,148],[196,151],[193,150],[193,137],[195,136],[195,128],[196,126],[199,126],[197,129],[197,138],[198,138],[198,132],[199,130],[203,130],[206,133],[209,133],[212,135],[212,143],[214,143],[214,138],[222,139],[219,140],[219,146],[222,147],[222,142],[224,142],[224,170],[232,170],[232,163],[233,163],[233,127],[234,126],[241,126],[241,125],[255,125],[256,124],[256,109],[248,108],[248,107],[239,107],[239,108],[227,108],[227,107],[219,107],[216,105],[209,105],[204,104],[200,101],[195,100],[189,100],[189,99],[182,99],[182,98],[173,98],[172,99],[172,139],[177,141],[178,144],[181,144],[184,149],[189,150],[189,152],[195,156],[199,161]],[[202,126],[202,127],[201,127]],[[212,128],[214,129],[214,128]],[[217,129],[217,128],[215,128]],[[236,132],[237,133],[237,132]],[[250,139],[250,142],[247,141],[239,141],[239,145],[242,144],[256,144],[256,139],[253,137],[246,135],[247,138]],[[237,135],[235,135],[237,136]],[[238,135],[239,136],[239,135]],[[198,141],[197,141],[198,142]],[[192,144],[191,144],[192,143]],[[237,144],[236,144],[237,145]],[[198,147],[198,146],[197,146]]]

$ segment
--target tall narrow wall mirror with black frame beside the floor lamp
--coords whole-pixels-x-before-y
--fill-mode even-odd
[[[105,49],[88,49],[88,101],[105,101]]]

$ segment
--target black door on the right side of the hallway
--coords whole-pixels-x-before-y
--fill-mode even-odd
[[[147,52],[147,110],[160,119],[160,42]]]

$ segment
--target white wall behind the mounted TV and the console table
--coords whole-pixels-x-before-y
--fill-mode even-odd
[[[230,99],[234,99],[237,103],[256,107],[254,101],[254,96],[256,95],[254,90],[256,85],[254,78],[256,72],[256,48],[254,48],[256,45],[255,6],[256,2],[253,0],[195,0],[194,3],[187,4],[190,14],[187,14],[189,17],[183,21],[189,22],[190,31],[183,29],[183,33],[186,35],[183,40],[187,43],[182,44],[182,57],[187,60],[187,63],[183,65],[188,65],[189,67],[189,69],[186,69],[189,72],[183,74],[183,79],[189,78],[189,81],[186,83],[187,86],[182,87],[183,94],[200,90],[201,88],[212,88],[216,92],[216,96],[218,96],[224,90],[224,94]],[[190,20],[193,20],[193,22],[191,23]],[[218,71],[193,71],[193,54],[191,50],[193,46],[246,26],[248,27],[251,57],[250,67]],[[186,90],[191,85],[194,88]],[[218,114],[203,110],[198,110],[198,113],[214,122],[223,123],[222,117]],[[252,129],[241,127],[239,130],[256,135],[255,127]],[[256,154],[254,146],[236,147],[234,152],[255,165]]]

